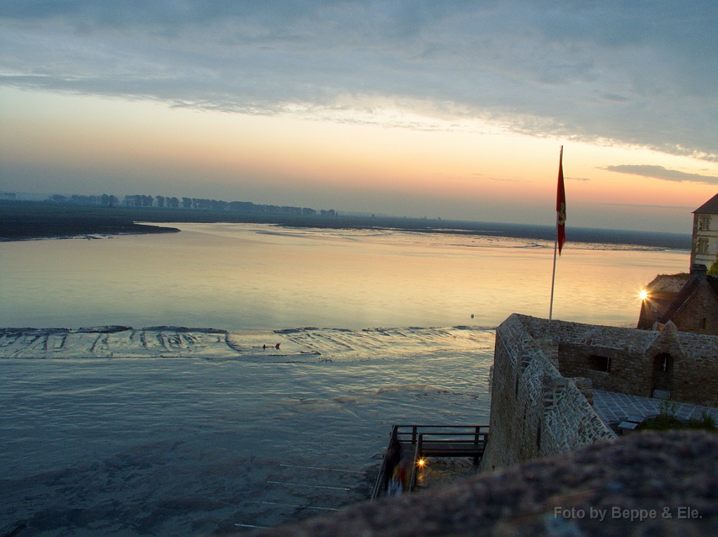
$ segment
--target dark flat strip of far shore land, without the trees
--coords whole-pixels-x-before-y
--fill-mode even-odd
[[[148,224],[137,224],[145,222]],[[418,233],[483,235],[553,241],[553,225],[469,222],[426,218],[353,215],[282,215],[159,207],[88,207],[49,202],[0,201],[0,241],[71,238],[85,235],[178,233],[161,223],[253,223],[287,228],[403,230]],[[651,246],[690,250],[688,233],[567,227],[569,242]]]

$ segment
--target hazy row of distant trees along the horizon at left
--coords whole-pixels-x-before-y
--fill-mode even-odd
[[[99,207],[116,207],[120,200],[116,196],[103,194],[101,196],[61,196],[55,194],[50,196],[50,201],[59,204],[85,205]],[[317,215],[317,211],[309,207],[288,207],[279,205],[257,205],[252,202],[225,202],[223,200],[206,200],[199,197],[169,197],[169,196],[147,196],[131,195],[125,196],[122,200],[123,207],[159,207],[160,209],[194,209],[229,211],[231,213],[251,213],[256,215]],[[334,209],[320,210],[322,216],[336,216]]]

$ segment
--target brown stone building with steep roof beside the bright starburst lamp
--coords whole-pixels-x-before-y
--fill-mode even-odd
[[[695,263],[691,274],[661,274],[645,288],[640,330],[657,330],[668,321],[681,332],[718,335],[718,277]]]

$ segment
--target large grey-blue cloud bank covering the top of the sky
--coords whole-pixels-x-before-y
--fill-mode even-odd
[[[714,1],[15,0],[0,84],[718,161],[715,27]]]

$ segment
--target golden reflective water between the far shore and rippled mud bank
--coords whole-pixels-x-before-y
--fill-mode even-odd
[[[175,226],[182,233],[0,243],[0,326],[492,327],[549,313],[549,243]],[[564,249],[554,317],[633,324],[640,287],[689,265],[686,251],[593,248]]]

